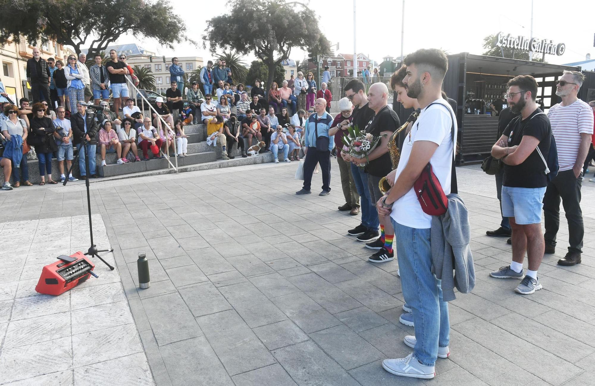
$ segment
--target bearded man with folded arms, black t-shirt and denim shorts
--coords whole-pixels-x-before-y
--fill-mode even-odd
[[[553,136],[549,119],[535,101],[537,82],[534,77],[519,75],[509,80],[507,86],[506,99],[512,113],[521,113],[521,116],[509,123],[491,148],[491,155],[504,163],[502,214],[509,217],[512,228],[512,262],[490,272],[490,276],[522,279],[515,291],[529,295],[542,288],[537,269],[543,260],[541,209],[547,175],[538,151],[547,160]],[[527,273],[523,275],[525,253],[529,262]]]

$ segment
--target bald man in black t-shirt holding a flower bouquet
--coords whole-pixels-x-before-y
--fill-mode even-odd
[[[389,89],[384,83],[378,82],[370,86],[368,90],[368,107],[374,110],[374,116],[372,116],[365,127],[360,127],[360,129],[364,128],[367,133],[380,136],[380,144],[368,154],[367,158],[352,157],[353,163],[367,163],[368,190],[372,203],[376,203],[383,197],[380,188],[378,188],[378,182],[391,172],[393,165],[390,161],[387,144],[389,143],[390,136],[400,126],[399,116],[387,104],[388,96]],[[390,224],[390,216],[381,216],[379,212],[378,220],[380,220],[380,238],[366,244],[367,248],[378,251],[369,257],[368,261],[372,263],[390,262],[390,260],[394,259],[394,231]],[[412,326],[413,317],[408,320],[401,320],[401,322]]]

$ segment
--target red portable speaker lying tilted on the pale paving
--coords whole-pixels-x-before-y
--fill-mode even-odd
[[[43,267],[35,291],[46,295],[60,295],[89,279],[95,264],[87,260],[82,252],[58,257],[57,262]]]

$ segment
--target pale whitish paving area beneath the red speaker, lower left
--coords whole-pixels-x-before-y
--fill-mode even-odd
[[[3,235],[19,241],[18,248],[0,243],[0,384],[155,384],[118,269],[92,259],[99,279],[59,296],[35,292],[43,266],[87,241],[81,234],[87,221],[69,216],[0,223]],[[93,215],[93,231],[95,242],[108,248],[99,215]],[[102,257],[114,264],[112,253]]]

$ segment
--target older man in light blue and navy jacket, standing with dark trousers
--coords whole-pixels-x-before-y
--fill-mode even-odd
[[[304,148],[306,160],[303,164],[303,188],[296,194],[310,194],[312,173],[316,164],[322,170],[322,191],[318,195],[327,195],[331,192],[331,150],[334,147],[334,135],[328,135],[328,129],[333,123],[333,117],[326,111],[327,101],[318,98],[314,102],[314,114],[306,121],[304,132]],[[390,162],[390,161],[389,161]]]

